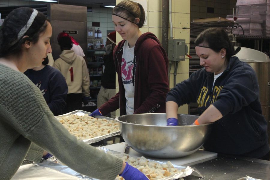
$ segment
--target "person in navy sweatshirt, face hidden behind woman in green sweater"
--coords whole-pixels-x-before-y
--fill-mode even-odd
[[[62,115],[66,106],[67,83],[61,72],[47,65],[48,56],[42,61],[42,65],[28,69],[24,74],[41,90],[50,110],[54,116]]]

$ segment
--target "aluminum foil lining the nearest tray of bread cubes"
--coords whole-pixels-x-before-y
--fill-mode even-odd
[[[104,151],[106,153],[109,152],[110,154],[115,155],[118,158],[121,158],[123,156],[128,155],[128,154],[112,151],[112,150],[106,149],[106,148],[100,148],[99,150]],[[138,158],[138,157],[135,157],[135,156],[130,156],[130,155],[128,155],[128,156]],[[154,161],[154,160],[148,159],[148,161]],[[165,163],[165,162],[160,162],[160,161],[154,161],[154,162],[156,162],[158,164],[164,164]],[[39,163],[39,165],[44,166],[44,167],[48,167],[48,168],[52,168],[54,170],[58,170],[58,171],[60,171],[62,173],[73,175],[73,176],[76,176],[76,177],[81,178],[81,179],[98,180],[98,179],[90,178],[90,177],[87,177],[87,176],[84,176],[82,174],[77,173],[76,171],[74,171],[74,170],[70,169],[69,167],[65,166],[64,164],[62,164],[54,156],[47,159],[47,160],[42,161],[41,163]],[[175,164],[173,164],[173,167],[175,167],[176,169],[181,171],[181,173],[177,173],[174,176],[171,176],[171,177],[168,177],[168,178],[162,178],[160,180],[174,180],[174,179],[179,179],[179,178],[189,176],[191,174],[193,176],[203,178],[202,174],[196,168],[191,168],[189,166],[187,166],[187,167],[185,167],[185,166],[177,166]]]

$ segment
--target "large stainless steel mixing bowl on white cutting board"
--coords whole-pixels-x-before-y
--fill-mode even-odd
[[[179,126],[167,126],[165,113],[125,115],[116,121],[135,151],[155,158],[179,158],[197,151],[209,134],[211,124],[191,126],[197,118],[179,114]]]

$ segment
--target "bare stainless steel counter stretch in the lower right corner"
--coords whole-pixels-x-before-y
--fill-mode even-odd
[[[237,180],[246,176],[255,179],[270,179],[270,161],[243,158],[239,156],[217,155],[217,158],[199,164],[191,165],[203,176],[204,180]],[[200,179],[187,176],[184,180]]]

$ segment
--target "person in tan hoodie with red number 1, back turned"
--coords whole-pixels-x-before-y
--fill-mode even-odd
[[[83,57],[76,55],[72,50],[72,41],[69,37],[59,39],[62,53],[55,60],[53,67],[60,70],[66,79],[68,92],[66,107],[63,113],[79,110],[84,104],[88,104],[90,97],[90,79],[88,69]]]

